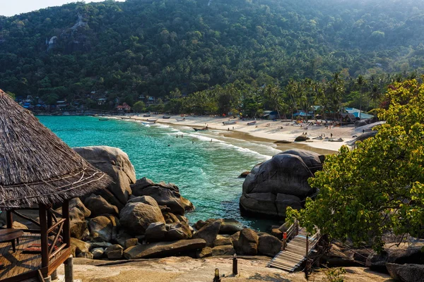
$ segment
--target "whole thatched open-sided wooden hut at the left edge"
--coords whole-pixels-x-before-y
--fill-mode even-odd
[[[71,254],[69,200],[110,181],[0,90],[0,209],[7,218],[7,229],[0,229],[0,281],[51,275]],[[62,214],[54,205],[61,205]],[[38,209],[39,221],[20,214],[22,209]],[[12,228],[13,214],[40,228],[22,234]],[[15,239],[6,241],[9,231],[21,237],[16,252],[10,248]]]

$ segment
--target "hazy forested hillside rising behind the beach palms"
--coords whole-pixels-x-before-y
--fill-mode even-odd
[[[424,2],[126,0],[0,17],[0,88],[43,100],[190,94],[424,70]]]

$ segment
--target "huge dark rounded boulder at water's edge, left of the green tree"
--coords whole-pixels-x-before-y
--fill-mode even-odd
[[[243,183],[242,212],[285,217],[285,209],[300,209],[316,190],[307,182],[322,169],[324,157],[314,152],[291,149],[255,166]]]

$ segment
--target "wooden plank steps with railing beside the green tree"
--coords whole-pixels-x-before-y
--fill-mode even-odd
[[[298,235],[288,242],[285,250],[279,252],[271,259],[269,267],[275,267],[284,271],[293,272],[306,260],[306,231],[299,229]],[[315,243],[319,240],[319,233],[313,235],[308,241],[308,254],[314,250]]]

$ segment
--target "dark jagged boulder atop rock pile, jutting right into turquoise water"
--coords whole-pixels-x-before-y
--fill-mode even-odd
[[[170,208],[172,214],[184,215],[185,211],[194,209],[194,205],[179,194],[179,189],[172,183],[153,183],[148,178],[141,178],[131,185],[132,194],[136,197],[151,196],[161,206]]]

